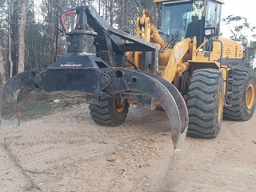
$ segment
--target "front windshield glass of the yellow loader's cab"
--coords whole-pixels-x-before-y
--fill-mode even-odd
[[[204,0],[163,5],[162,32],[174,37],[175,41],[180,41],[182,37],[196,36],[198,42],[202,42],[204,8]],[[194,29],[190,26],[194,26]]]

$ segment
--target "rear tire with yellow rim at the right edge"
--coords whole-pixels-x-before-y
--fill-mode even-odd
[[[254,71],[234,69],[232,106],[224,107],[223,118],[240,122],[249,120],[255,110],[255,90]],[[230,99],[230,96],[226,98],[227,102]]]

